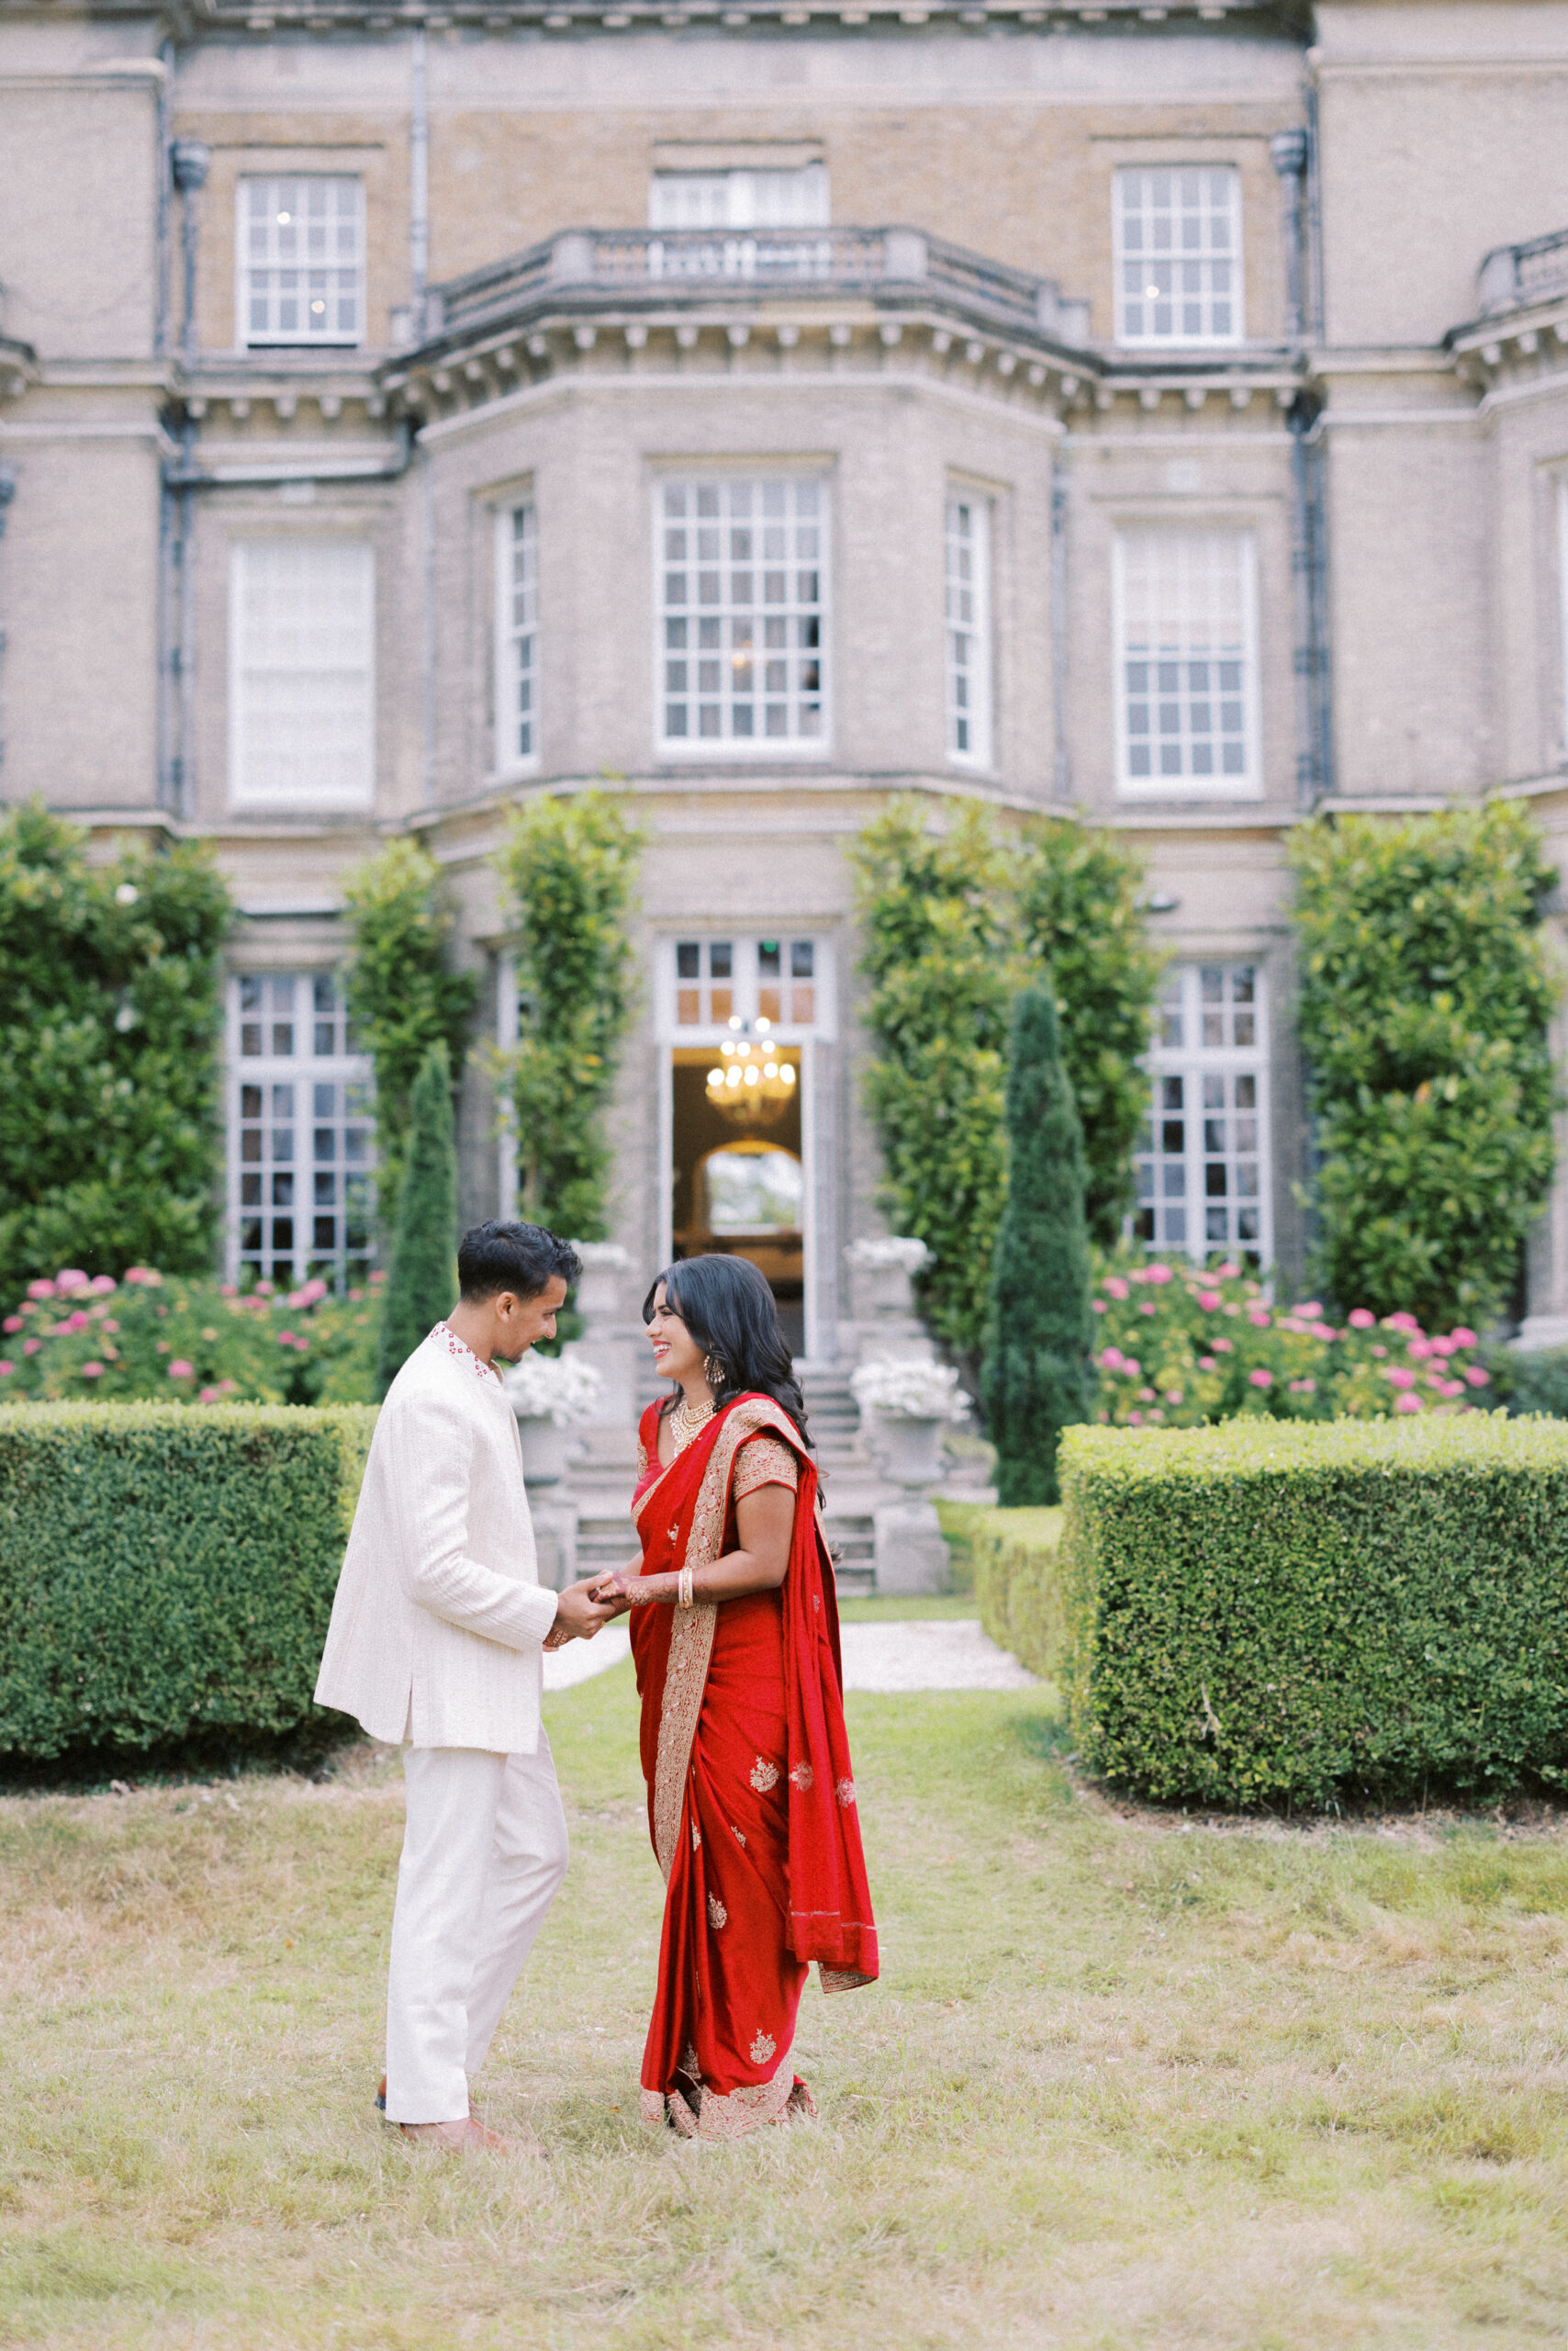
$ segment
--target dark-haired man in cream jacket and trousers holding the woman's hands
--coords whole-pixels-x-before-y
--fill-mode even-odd
[[[496,1371],[555,1335],[578,1272],[538,1225],[463,1237],[458,1305],[376,1420],[315,1686],[404,1749],[386,2116],[449,2149],[508,2146],[473,2116],[468,2076],[567,1874],[541,1648],[609,1617],[585,1582],[541,1589]]]

